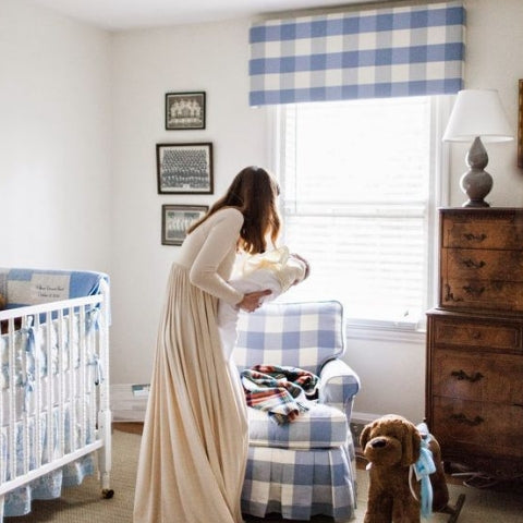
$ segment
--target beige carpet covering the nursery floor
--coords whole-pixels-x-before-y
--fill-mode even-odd
[[[63,491],[60,499],[51,501],[34,501],[33,512],[23,518],[5,518],[4,523],[25,522],[57,522],[57,523],[131,523],[134,499],[134,482],[136,461],[141,436],[135,434],[113,431],[112,454],[112,499],[101,499],[100,486],[97,479],[89,477],[74,488]],[[361,523],[365,514],[367,498],[367,473],[357,471],[358,508],[356,519],[351,523]],[[490,489],[477,489],[461,485],[450,485],[451,502],[458,499],[459,494],[465,494],[466,500],[458,523],[522,523],[523,495],[500,492]],[[434,514],[431,522],[448,521],[446,514]],[[247,523],[270,521],[278,523],[282,520],[267,518],[247,518]],[[314,523],[332,523],[330,518],[314,518]],[[173,523],[175,520],[173,519]],[[209,522],[219,523],[219,522]],[[297,522],[294,522],[297,523]]]

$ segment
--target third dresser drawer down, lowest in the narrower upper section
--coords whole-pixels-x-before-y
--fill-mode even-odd
[[[445,308],[521,313],[523,282],[441,279],[439,304]]]

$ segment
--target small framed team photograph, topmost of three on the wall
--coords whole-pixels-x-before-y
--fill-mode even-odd
[[[166,129],[205,129],[205,93],[167,93]]]

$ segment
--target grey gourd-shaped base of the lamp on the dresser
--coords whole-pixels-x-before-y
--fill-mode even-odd
[[[460,180],[462,191],[469,196],[463,207],[490,207],[484,200],[492,188],[492,177],[484,170],[487,163],[487,151],[479,137],[476,137],[466,155],[470,170]]]

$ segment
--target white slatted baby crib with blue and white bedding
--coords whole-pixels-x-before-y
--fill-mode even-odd
[[[112,497],[109,278],[0,268],[0,522],[87,475]]]

